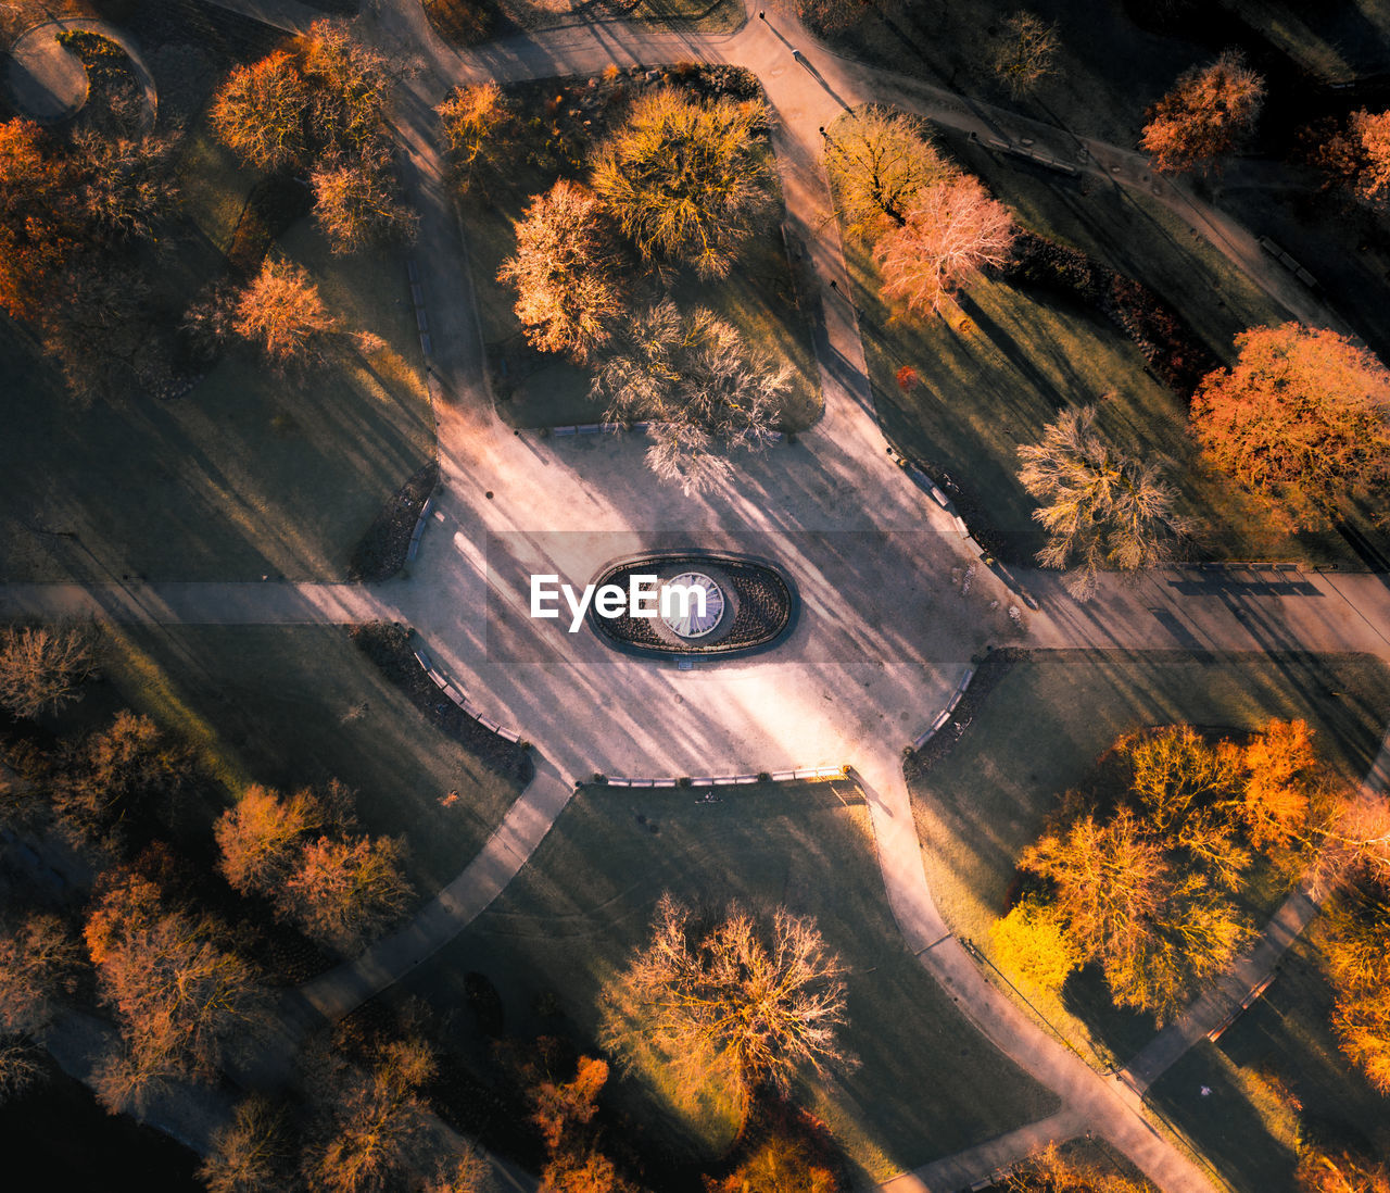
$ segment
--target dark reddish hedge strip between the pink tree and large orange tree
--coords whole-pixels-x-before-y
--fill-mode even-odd
[[[1004,270],[1011,284],[1076,295],[1119,327],[1159,380],[1183,398],[1220,366],[1187,321],[1148,286],[1036,232],[1019,232],[1013,253]]]

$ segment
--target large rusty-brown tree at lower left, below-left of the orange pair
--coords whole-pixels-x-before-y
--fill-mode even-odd
[[[250,966],[222,944],[211,916],[172,907],[154,883],[126,870],[99,880],[86,930],[101,1000],[125,1043],[100,1078],[113,1108],[138,1103],[163,1078],[211,1080],[265,1000]]]

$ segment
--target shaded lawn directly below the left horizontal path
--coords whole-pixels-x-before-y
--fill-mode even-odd
[[[404,834],[427,894],[468,863],[518,794],[430,726],[342,627],[113,627],[106,641],[107,683],[72,716],[95,724],[133,708],[197,747],[221,783],[211,806],[186,809],[195,847],[210,848],[213,819],[247,783],[288,791],[336,777],[357,793],[364,829]],[[450,791],[460,798],[445,808]]]

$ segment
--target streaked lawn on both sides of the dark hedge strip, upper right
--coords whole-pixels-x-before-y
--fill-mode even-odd
[[[1080,249],[1151,286],[1180,310],[1219,359],[1237,331],[1283,313],[1170,211],[1131,190],[1045,178],[941,136],[1020,224]],[[1036,502],[1017,481],[1017,449],[1037,442],[1059,410],[1097,403],[1101,427],[1129,451],[1159,460],[1198,526],[1201,558],[1347,560],[1330,533],[1287,534],[1261,503],[1201,457],[1187,432],[1187,403],[1150,374],[1138,349],[1098,313],[1065,298],[981,278],[958,316],[895,314],[877,296],[878,273],[863,246],[847,246],[860,331],[880,414],[901,448],[955,480],[967,520],[998,549],[1031,560],[1041,535]],[[903,391],[898,370],[917,384]],[[973,508],[973,510],[970,509]],[[973,513],[973,516],[972,516]]]

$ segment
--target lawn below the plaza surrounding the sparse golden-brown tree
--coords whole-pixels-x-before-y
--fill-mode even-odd
[[[648,934],[663,891],[714,908],[739,900],[813,915],[849,966],[847,1041],[862,1065],[805,1096],[858,1175],[881,1180],[1052,1108],[986,1043],[902,944],[883,891],[867,811],[847,783],[748,787],[721,802],[691,791],[584,788],[502,897],[403,983],[435,1007],[464,1005],[464,975],[498,987],[510,1033],[555,1030],[532,1015],[553,991],[581,1039],[596,1000]],[[719,1153],[733,1132],[717,1090],[673,1103],[657,1072],[619,1090],[680,1153]]]

